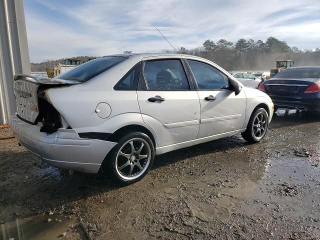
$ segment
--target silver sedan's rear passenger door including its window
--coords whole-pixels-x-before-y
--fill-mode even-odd
[[[200,104],[179,58],[144,58],[137,98],[143,121],[158,146],[193,140],[199,131]]]

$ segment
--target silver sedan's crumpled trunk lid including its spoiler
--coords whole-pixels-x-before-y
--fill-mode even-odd
[[[62,86],[79,84],[75,80],[64,80],[37,75],[14,75],[14,96],[17,104],[17,116],[23,120],[36,124],[39,115],[38,88],[40,85]]]

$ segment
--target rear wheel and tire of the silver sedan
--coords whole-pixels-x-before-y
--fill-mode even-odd
[[[120,137],[117,142],[104,159],[103,170],[120,184],[131,184],[140,180],[150,170],[153,163],[152,140],[145,133],[136,131]],[[142,154],[146,157],[143,157]]]

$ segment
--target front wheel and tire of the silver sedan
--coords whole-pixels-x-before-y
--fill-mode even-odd
[[[262,116],[261,122],[259,122],[260,116]],[[263,123],[263,120],[265,121],[264,123]],[[259,142],[266,135],[268,127],[269,127],[268,113],[264,108],[256,108],[250,116],[248,125],[246,126],[246,130],[242,132],[241,135],[243,139],[248,142],[253,142],[253,143]],[[258,134],[259,133],[258,129],[260,129],[260,135]]]

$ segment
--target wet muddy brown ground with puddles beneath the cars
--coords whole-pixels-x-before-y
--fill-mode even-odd
[[[320,116],[278,110],[260,143],[159,155],[124,187],[0,140],[0,239],[320,239],[319,133]]]

